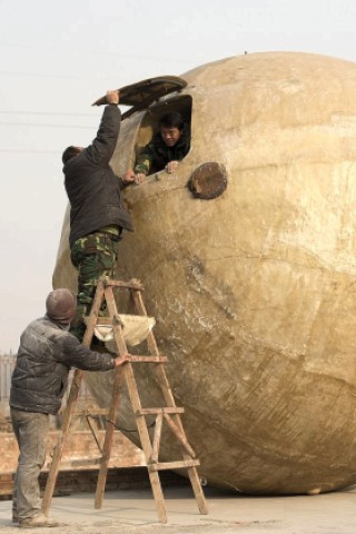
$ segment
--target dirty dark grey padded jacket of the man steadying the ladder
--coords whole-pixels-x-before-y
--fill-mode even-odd
[[[63,326],[47,316],[36,319],[20,339],[11,379],[10,406],[23,412],[57,414],[65,394],[70,367],[110,370],[109,354],[82,346]]]

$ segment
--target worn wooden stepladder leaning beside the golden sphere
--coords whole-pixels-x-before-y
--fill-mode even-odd
[[[125,326],[118,314],[117,304],[115,299],[115,289],[128,289],[130,304],[134,307],[135,315],[147,316],[146,307],[142,299],[142,285],[139,280],[132,279],[129,283],[113,280],[108,277],[102,277],[98,281],[96,296],[92,303],[91,312],[86,318],[87,330],[82,344],[90,347],[95,328],[100,325],[112,327],[113,339],[117,345],[118,354],[123,356],[128,354],[127,344],[123,336]],[[102,303],[107,305],[107,317],[99,317],[99,310]],[[100,468],[96,490],[96,508],[102,506],[108,465],[111,455],[113,443],[115,422],[118,418],[120,396],[123,384],[126,385],[132,412],[136,419],[137,431],[141,443],[141,448],[146,458],[146,465],[149,474],[149,479],[155,497],[156,508],[159,521],[167,523],[166,505],[159,472],[165,469],[185,469],[189,476],[190,484],[201,514],[207,514],[207,504],[200,484],[197,467],[200,465],[199,459],[191,446],[188,443],[180,415],[184,413],[182,407],[176,406],[175,398],[169,386],[166,374],[165,364],[167,357],[159,354],[156,338],[152,330],[147,336],[147,347],[149,354],[147,356],[135,356],[129,354],[128,360],[115,370],[112,397],[108,413],[108,421],[112,424],[107,425],[105,442],[100,453]],[[162,407],[142,407],[141,397],[139,394],[138,383],[135,376],[134,367],[137,365],[154,366],[155,382],[159,386],[162,399],[166,406]],[[66,439],[70,429],[70,421],[73,408],[78,398],[79,388],[83,378],[83,372],[76,369],[71,383],[71,388],[67,402],[67,406],[62,416],[62,427],[60,437],[53,452],[52,463],[47,478],[46,490],[42,501],[42,512],[48,515],[51,500],[53,496],[55,485],[60,468],[60,462],[65,447]],[[155,417],[154,425],[148,425],[147,417],[150,419]],[[154,426],[152,435],[149,428]],[[180,451],[181,458],[170,462],[161,462],[159,458],[160,446],[162,444],[164,432],[170,432],[176,439],[178,451]],[[177,447],[176,447],[177,448]]]

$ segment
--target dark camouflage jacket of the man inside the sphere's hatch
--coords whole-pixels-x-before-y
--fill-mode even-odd
[[[160,132],[155,134],[151,142],[146,145],[138,156],[135,172],[148,175],[162,170],[169,161],[180,161],[189,149],[190,131],[187,125],[184,125],[181,136],[174,147],[166,145]]]

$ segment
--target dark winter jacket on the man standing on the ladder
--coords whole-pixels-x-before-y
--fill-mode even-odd
[[[109,166],[120,120],[118,107],[106,106],[96,139],[63,167],[70,201],[70,246],[106,226],[117,225],[132,231],[130,215],[120,194],[123,182]]]

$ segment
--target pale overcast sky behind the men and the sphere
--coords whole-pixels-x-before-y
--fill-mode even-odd
[[[355,0],[0,0],[0,354],[43,314],[67,206],[61,152],[115,89],[245,51],[356,61]],[[356,95],[355,95],[356,98]]]

